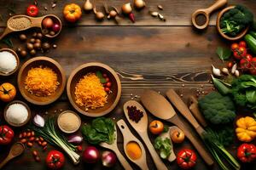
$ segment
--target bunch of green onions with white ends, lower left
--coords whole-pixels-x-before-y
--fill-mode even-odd
[[[45,140],[49,142],[49,144],[57,145],[62,150],[64,150],[67,155],[72,159],[74,164],[79,163],[80,156],[77,154],[76,146],[67,142],[67,139],[63,137],[58,131],[55,130],[55,118],[50,117],[44,127],[32,127],[33,130],[40,136],[42,136]]]

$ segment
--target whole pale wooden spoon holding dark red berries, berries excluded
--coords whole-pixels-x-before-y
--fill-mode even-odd
[[[131,105],[136,106],[138,110],[143,111],[143,117],[139,122],[131,121],[131,119],[128,116],[127,106],[131,106]],[[133,127],[137,131],[137,133],[143,139],[144,144],[147,145],[148,151],[152,156],[155,167],[159,170],[167,170],[166,165],[160,159],[160,156],[154,150],[154,146],[151,144],[148,138],[148,115],[147,115],[147,112],[144,110],[143,105],[140,105],[137,101],[129,100],[124,105],[124,111],[125,111],[126,119],[131,124],[131,127]]]

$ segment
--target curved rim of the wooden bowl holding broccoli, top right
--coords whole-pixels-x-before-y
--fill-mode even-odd
[[[247,34],[247,31],[249,30],[249,26],[247,26],[247,28],[245,28],[243,31],[241,31],[238,35],[236,35],[236,37],[229,37],[228,35],[226,35],[226,34],[224,34],[222,31],[221,31],[221,29],[220,29],[220,24],[219,24],[219,22],[220,22],[220,19],[221,19],[221,17],[222,17],[222,15],[224,14],[224,13],[226,13],[228,10],[230,10],[231,8],[235,8],[236,6],[230,6],[230,7],[227,7],[227,8],[224,8],[222,11],[220,11],[219,13],[218,13],[218,17],[217,17],[217,20],[216,20],[216,28],[217,28],[217,30],[218,30],[218,33],[222,36],[222,37],[224,37],[225,39],[227,39],[227,40],[230,40],[230,41],[236,41],[236,40],[238,40],[238,39],[241,39],[241,37],[244,37],[246,34]]]

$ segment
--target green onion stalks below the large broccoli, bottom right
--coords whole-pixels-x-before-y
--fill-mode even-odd
[[[212,153],[212,156],[218,162],[219,167],[223,170],[230,170],[229,167],[224,165],[221,157],[230,163],[230,166],[236,170],[241,168],[240,164],[236,159],[224,148],[223,140],[218,136],[218,133],[212,131],[211,128],[207,128],[206,133],[203,134],[203,140],[207,145],[207,149]]]

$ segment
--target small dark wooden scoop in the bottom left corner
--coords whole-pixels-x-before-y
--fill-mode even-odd
[[[17,142],[12,145],[9,150],[9,155],[0,163],[0,169],[10,160],[14,159],[16,156],[20,156],[25,150],[24,144]]]

